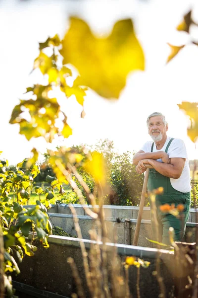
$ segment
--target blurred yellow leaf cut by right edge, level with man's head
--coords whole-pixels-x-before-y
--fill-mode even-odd
[[[191,141],[196,143],[198,138],[198,102],[183,101],[181,104],[178,104],[178,107],[184,110],[186,115],[190,117],[187,133]]]

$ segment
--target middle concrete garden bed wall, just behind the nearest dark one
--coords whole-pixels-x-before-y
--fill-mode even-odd
[[[49,213],[49,218],[52,225],[61,227],[64,231],[71,234],[72,236],[77,236],[73,215],[69,214],[53,214]],[[96,222],[89,216],[78,216],[79,225],[81,228],[83,239],[90,239],[89,230],[96,227]],[[131,219],[115,219],[106,218],[106,225],[108,231],[109,242],[114,242],[113,234],[114,229],[116,229],[117,243],[122,244],[133,244],[134,233],[136,229],[137,220]],[[186,234],[184,237],[185,242],[195,242],[195,228],[198,224],[187,223]],[[145,247],[152,247],[152,243],[146,238],[151,239],[151,224],[149,220],[142,220],[138,245]]]

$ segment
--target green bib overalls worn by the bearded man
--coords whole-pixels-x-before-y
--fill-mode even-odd
[[[165,149],[165,152],[168,152],[168,148],[173,139],[171,139]],[[151,147],[151,152],[153,150],[154,143]],[[154,223],[154,218],[151,213],[151,226],[152,226],[152,237],[153,240],[162,242],[164,244],[170,244],[169,240],[169,227],[172,226],[175,230],[175,241],[181,241],[184,237],[186,230],[186,223],[189,218],[190,213],[190,205],[191,205],[191,193],[182,193],[176,189],[174,189],[171,185],[170,178],[165,177],[158,173],[155,169],[149,170],[148,176],[148,191],[151,192],[153,189],[157,189],[158,187],[163,187],[163,194],[156,195],[156,209],[157,209],[157,222],[158,222],[158,236],[159,239],[156,239],[156,224]],[[172,214],[163,213],[160,211],[160,205],[164,204],[174,204],[177,206],[178,204],[184,205],[184,211],[180,213],[182,215],[182,220],[176,218]],[[150,207],[152,208],[152,204],[150,202]]]

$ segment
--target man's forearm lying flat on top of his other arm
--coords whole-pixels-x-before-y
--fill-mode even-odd
[[[142,159],[162,159],[163,162],[169,163],[169,156],[164,151],[157,152],[144,152],[143,150],[138,151],[133,156],[133,164],[138,164],[138,162]]]

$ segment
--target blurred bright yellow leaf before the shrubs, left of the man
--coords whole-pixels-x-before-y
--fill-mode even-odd
[[[104,158],[101,153],[97,151],[92,152],[92,158],[85,162],[84,168],[93,176],[97,183],[101,183],[102,186],[105,185],[106,170]]]

